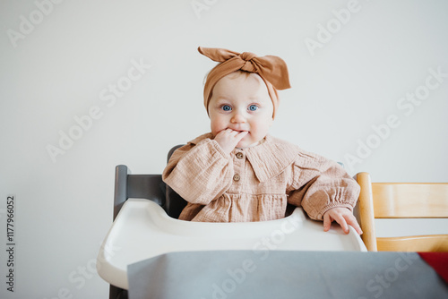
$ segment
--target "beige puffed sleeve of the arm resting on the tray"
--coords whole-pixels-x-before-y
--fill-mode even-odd
[[[289,203],[301,205],[312,219],[322,220],[332,208],[353,210],[358,201],[358,183],[332,160],[301,151],[292,173]]]

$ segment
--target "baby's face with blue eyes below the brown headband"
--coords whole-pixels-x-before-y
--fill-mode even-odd
[[[208,109],[213,136],[226,129],[248,132],[237,148],[263,140],[272,124],[272,101],[263,79],[255,73],[230,73],[220,79]]]

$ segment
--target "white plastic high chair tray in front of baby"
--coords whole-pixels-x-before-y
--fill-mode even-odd
[[[99,251],[97,269],[108,283],[128,289],[127,266],[168,252],[252,250],[366,252],[359,235],[323,223],[300,208],[286,218],[262,222],[204,223],[170,218],[157,203],[128,199]]]

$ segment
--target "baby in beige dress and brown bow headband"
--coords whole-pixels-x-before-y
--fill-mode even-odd
[[[337,163],[268,134],[289,73],[277,56],[199,47],[220,64],[207,76],[211,132],[177,149],[163,180],[185,201],[179,219],[204,222],[284,218],[288,204],[312,219],[362,234],[352,210],[359,185]]]

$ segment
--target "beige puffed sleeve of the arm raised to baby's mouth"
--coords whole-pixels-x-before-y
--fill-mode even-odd
[[[177,149],[162,179],[185,201],[206,205],[228,189],[233,172],[230,156],[206,138]]]

